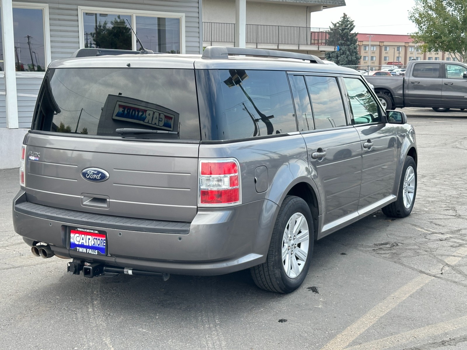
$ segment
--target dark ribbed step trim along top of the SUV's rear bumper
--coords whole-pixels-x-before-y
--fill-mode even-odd
[[[40,217],[47,220],[61,221],[67,224],[95,226],[127,231],[173,233],[179,235],[186,235],[190,232],[190,223],[113,217],[52,208],[31,202],[15,204],[14,210],[21,214]]]

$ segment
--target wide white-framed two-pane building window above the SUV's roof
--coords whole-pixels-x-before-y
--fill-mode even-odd
[[[134,28],[145,49],[184,53],[184,14],[78,7],[83,48],[140,50]]]

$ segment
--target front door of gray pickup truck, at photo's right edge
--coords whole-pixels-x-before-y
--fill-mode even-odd
[[[444,63],[441,97],[446,107],[467,108],[467,67],[458,63]]]

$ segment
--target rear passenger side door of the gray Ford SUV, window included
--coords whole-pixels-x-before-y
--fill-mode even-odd
[[[312,177],[324,202],[321,234],[325,235],[358,218],[360,139],[354,127],[348,126],[336,77],[289,77],[299,130],[315,172]]]

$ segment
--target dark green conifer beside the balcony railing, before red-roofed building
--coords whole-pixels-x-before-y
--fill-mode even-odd
[[[360,63],[358,54],[357,33],[352,33],[355,28],[354,21],[344,14],[339,22],[332,23],[332,29],[338,36],[339,51],[326,52],[326,60],[340,66],[356,66]]]

